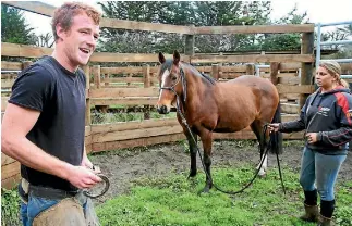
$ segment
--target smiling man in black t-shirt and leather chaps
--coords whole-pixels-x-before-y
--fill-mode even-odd
[[[2,152],[21,163],[24,225],[95,225],[82,189],[101,181],[84,147],[85,75],[100,13],[65,3],[52,17],[56,48],[24,70],[2,121]],[[96,216],[93,216],[93,218]]]

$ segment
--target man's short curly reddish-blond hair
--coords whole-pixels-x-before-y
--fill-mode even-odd
[[[73,17],[82,13],[87,14],[96,25],[99,25],[101,13],[90,5],[81,2],[66,2],[54,10],[51,21],[51,29],[56,41],[59,39],[56,29],[57,25],[60,24],[64,30],[69,30],[71,28]]]

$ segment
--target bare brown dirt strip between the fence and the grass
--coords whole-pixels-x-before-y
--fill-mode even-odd
[[[259,161],[257,145],[254,142],[246,142],[244,147],[241,141],[215,141],[213,143],[213,166],[236,166],[246,163],[255,167]],[[286,142],[283,153],[280,155],[281,166],[288,166],[294,172],[299,172],[302,147],[303,142]],[[338,177],[339,181],[352,179],[352,158],[350,155],[342,165]],[[95,201],[96,204],[129,191],[130,183],[133,179],[167,175],[171,171],[181,173],[190,170],[190,156],[183,142],[104,152],[93,155],[92,161],[95,165],[100,166],[101,172],[109,177],[111,184],[109,191]],[[198,172],[203,172],[198,155],[197,161]],[[276,156],[270,154],[268,171],[272,167],[277,167],[277,162]]]

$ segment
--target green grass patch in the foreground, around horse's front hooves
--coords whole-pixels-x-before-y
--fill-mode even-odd
[[[148,177],[134,181],[128,194],[120,196],[97,206],[101,225],[268,225],[309,226],[296,218],[302,214],[303,192],[298,174],[283,171],[287,196],[283,196],[277,171],[236,196],[211,190],[197,194],[204,186],[204,174],[186,180],[186,175]],[[215,168],[214,178],[226,190],[239,190],[253,176],[250,166]],[[336,222],[352,225],[351,183],[337,186]]]

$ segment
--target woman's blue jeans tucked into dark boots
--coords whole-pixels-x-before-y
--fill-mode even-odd
[[[305,147],[300,184],[305,191],[318,190],[324,201],[335,200],[333,186],[347,155],[325,155]]]

